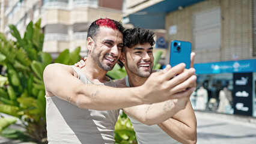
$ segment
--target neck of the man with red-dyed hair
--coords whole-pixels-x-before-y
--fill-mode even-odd
[[[109,81],[109,78],[106,77],[107,71],[102,70],[91,57],[87,58],[85,67],[81,68],[81,70],[93,83],[105,83]]]

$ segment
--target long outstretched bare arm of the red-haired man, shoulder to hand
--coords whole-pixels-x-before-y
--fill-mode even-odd
[[[175,80],[169,80],[177,74],[181,75],[184,66],[180,64],[166,73],[151,74],[151,78],[149,77],[144,85],[136,88],[84,84],[75,76],[75,72],[69,65],[62,64],[47,65],[43,77],[47,96],[55,95],[84,109],[111,110],[184,97],[179,92],[183,91],[186,85],[179,84],[192,74],[187,72],[186,79],[175,77]],[[158,94],[161,97],[155,97]]]

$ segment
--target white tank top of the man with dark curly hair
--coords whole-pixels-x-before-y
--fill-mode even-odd
[[[130,87],[128,76],[126,76],[126,86]],[[138,144],[179,143],[166,134],[158,125],[145,125],[133,118],[130,118],[130,122],[132,122]]]

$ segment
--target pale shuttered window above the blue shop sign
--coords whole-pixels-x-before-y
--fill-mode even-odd
[[[221,47],[221,8],[194,14],[193,35],[195,50]]]

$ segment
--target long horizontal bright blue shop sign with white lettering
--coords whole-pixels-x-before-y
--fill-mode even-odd
[[[249,73],[256,71],[256,59],[209,62],[194,65],[196,74]],[[241,82],[246,79],[240,79]]]

